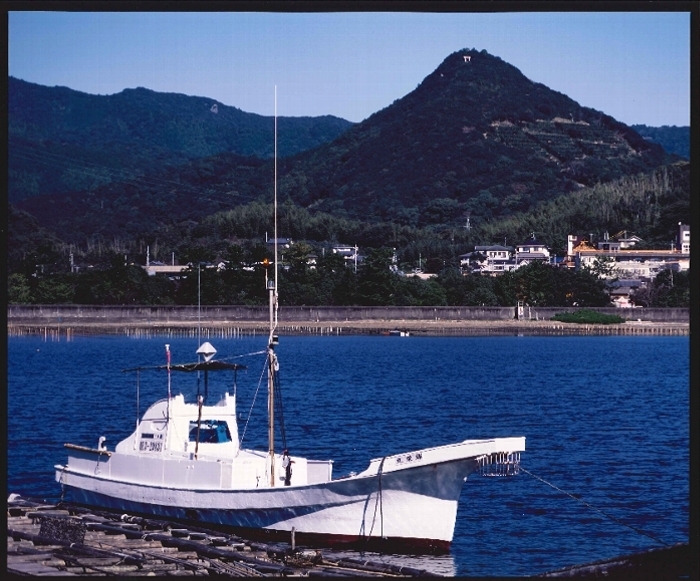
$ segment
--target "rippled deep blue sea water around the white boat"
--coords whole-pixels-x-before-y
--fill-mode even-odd
[[[264,337],[210,339],[218,358]],[[196,359],[196,339],[8,338],[7,490],[58,500],[63,444],[113,447],[166,394],[121,370]],[[450,555],[391,557],[459,576],[534,575],[689,538],[688,337],[280,337],[287,445],[335,460],[472,438],[527,437],[520,475],[464,484]],[[244,446],[266,447],[264,358],[241,357]],[[212,374],[209,391],[227,384]],[[196,393],[190,374],[172,390]],[[259,391],[258,391],[258,386]],[[201,384],[200,384],[201,387]],[[256,404],[251,410],[255,400]]]

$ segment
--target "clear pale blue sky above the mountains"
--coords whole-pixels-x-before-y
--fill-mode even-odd
[[[689,12],[8,16],[11,76],[92,94],[146,87],[272,115],[277,86],[279,115],[357,122],[476,48],[628,125],[690,125]]]

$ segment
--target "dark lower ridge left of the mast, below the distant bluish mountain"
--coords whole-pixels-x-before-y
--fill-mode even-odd
[[[33,196],[16,206],[62,240],[85,245],[188,228],[210,214],[258,198],[269,201],[272,188],[272,162],[227,153],[93,190]]]

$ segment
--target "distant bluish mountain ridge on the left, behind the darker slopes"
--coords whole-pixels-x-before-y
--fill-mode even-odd
[[[7,105],[11,202],[138,180],[219,153],[274,154],[273,117],[204,97],[144,88],[89,95],[10,77]],[[281,117],[280,155],[317,147],[351,126],[330,115]]]

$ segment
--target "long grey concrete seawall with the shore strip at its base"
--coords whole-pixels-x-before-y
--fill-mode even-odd
[[[280,335],[688,335],[688,309],[599,308],[626,322],[577,325],[551,321],[576,308],[525,307],[280,307]],[[234,337],[267,334],[268,307],[10,305],[8,335]]]

